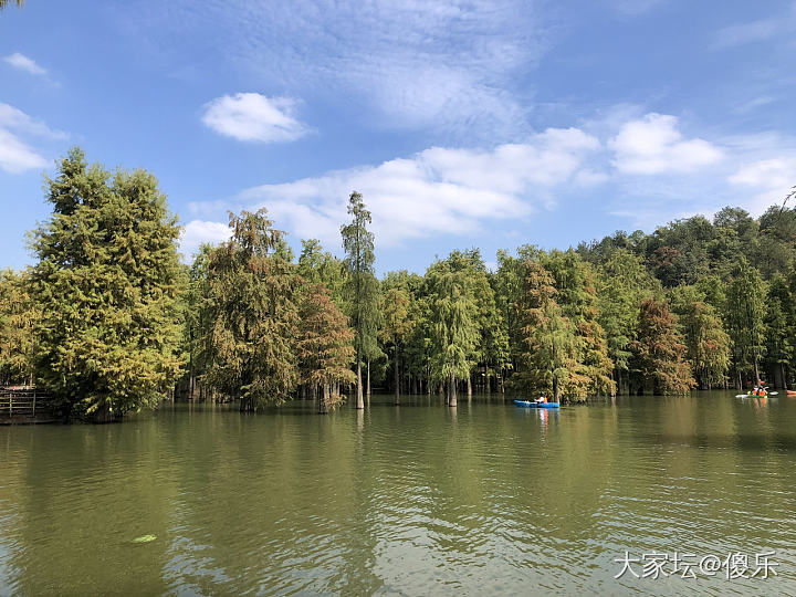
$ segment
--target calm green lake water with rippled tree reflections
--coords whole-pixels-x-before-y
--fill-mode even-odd
[[[733,394],[0,427],[0,594],[794,595],[796,399]],[[615,578],[766,551],[767,580]]]

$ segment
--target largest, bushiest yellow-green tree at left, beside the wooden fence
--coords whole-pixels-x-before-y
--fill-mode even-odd
[[[111,175],[77,148],[48,187],[53,214],[32,242],[38,377],[100,420],[155,405],[180,368],[179,227],[166,197],[150,174]]]

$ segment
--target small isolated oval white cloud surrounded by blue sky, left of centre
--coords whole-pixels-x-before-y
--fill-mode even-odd
[[[217,97],[205,106],[202,123],[220,135],[243,142],[290,142],[308,130],[295,118],[295,101],[259,93]]]

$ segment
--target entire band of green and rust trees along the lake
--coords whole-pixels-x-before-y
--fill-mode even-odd
[[[453,251],[421,275],[375,271],[366,198],[352,192],[343,258],[296,256],[265,209],[180,262],[155,177],[72,149],[45,181],[33,265],[0,272],[0,384],[35,385],[73,419],[165,397],[256,411],[373,390],[598,396],[789,387],[796,364],[796,210],[724,208],[567,250],[523,244],[489,269]]]

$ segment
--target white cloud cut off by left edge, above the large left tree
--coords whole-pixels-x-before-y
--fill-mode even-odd
[[[51,139],[66,137],[64,133],[50,128],[21,109],[0,103],[0,169],[10,174],[46,166],[45,159],[22,140],[20,135],[36,135]]]

